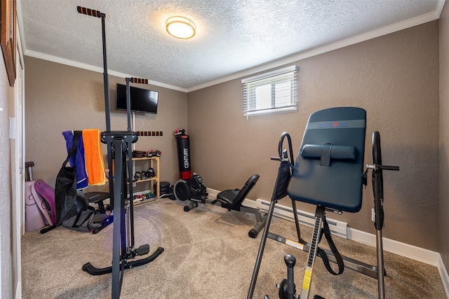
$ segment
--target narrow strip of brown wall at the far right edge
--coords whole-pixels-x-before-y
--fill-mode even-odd
[[[449,270],[449,5],[439,20],[440,37],[440,253]]]

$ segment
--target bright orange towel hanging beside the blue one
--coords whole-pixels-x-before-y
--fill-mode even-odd
[[[83,144],[89,185],[104,185],[107,179],[101,151],[100,130],[83,130]]]

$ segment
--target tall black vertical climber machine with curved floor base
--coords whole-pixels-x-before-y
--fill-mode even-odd
[[[132,260],[136,256],[147,255],[149,253],[149,244],[144,244],[137,248],[134,244],[133,184],[128,182],[133,180],[133,150],[131,145],[138,141],[138,133],[131,131],[129,83],[147,84],[148,80],[142,78],[126,78],[128,129],[126,131],[111,131],[105,34],[106,14],[81,6],[78,6],[76,10],[78,13],[91,15],[102,20],[106,131],[101,133],[101,141],[107,144],[108,165],[109,167],[114,165],[115,176],[114,183],[109,180],[109,195],[112,201],[112,213],[114,215],[112,266],[98,268],[91,265],[91,263],[86,263],[83,265],[83,270],[93,275],[112,273],[112,298],[115,299],[120,297],[123,272],[125,269],[150,263],[163,252],[163,248],[159,247],[147,258]],[[114,162],[112,161],[113,156]]]

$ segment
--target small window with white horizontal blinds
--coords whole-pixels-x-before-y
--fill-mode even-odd
[[[243,115],[297,111],[296,73],[294,65],[243,79]]]

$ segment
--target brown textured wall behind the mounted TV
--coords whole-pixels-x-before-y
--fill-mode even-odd
[[[25,65],[26,159],[34,161],[35,179],[54,186],[67,156],[61,132],[106,129],[103,75],[32,57],[25,57]],[[109,76],[111,130],[126,130],[126,112],[114,109],[116,83],[125,84],[125,80]],[[135,149],[161,151],[161,179],[174,183],[179,170],[173,132],[178,127],[187,127],[187,95],[156,86],[147,88],[159,91],[158,114],[135,113],[135,130],[163,131],[163,137],[139,137]],[[105,144],[102,151],[107,153]],[[139,184],[138,187],[135,191],[149,186]],[[95,189],[92,186],[88,190]]]

